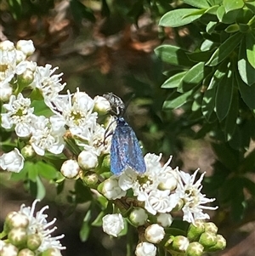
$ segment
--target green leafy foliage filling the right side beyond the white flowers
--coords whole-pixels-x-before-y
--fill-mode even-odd
[[[248,208],[243,190],[251,191],[253,185],[243,175],[255,169],[253,151],[245,156],[255,132],[255,1],[184,3],[190,9],[179,6],[159,22],[177,31],[187,26],[195,44],[192,50],[183,43],[182,47],[161,45],[155,49],[162,61],[178,70],[161,85],[168,90],[163,109],[182,106],[190,127],[194,123],[201,127],[195,138],[209,134],[214,139],[218,162],[208,180],[217,183],[219,172],[224,178],[209,193],[217,191],[219,198],[223,196],[220,201],[229,205],[233,219],[239,221]],[[194,27],[202,37],[192,34]],[[250,193],[254,196],[254,190]]]

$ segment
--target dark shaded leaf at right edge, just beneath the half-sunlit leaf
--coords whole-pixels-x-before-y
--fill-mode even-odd
[[[241,80],[241,77],[236,74],[236,80],[238,83],[238,88],[241,93],[242,100],[246,103],[246,105],[251,108],[255,109],[255,83],[251,86],[246,85],[245,82]]]

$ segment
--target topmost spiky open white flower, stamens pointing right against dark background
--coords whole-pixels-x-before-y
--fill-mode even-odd
[[[58,67],[51,69],[52,65],[37,66],[35,71],[35,79],[31,83],[32,88],[38,88],[42,93],[45,104],[52,107],[54,100],[58,97],[59,92],[65,88],[65,83],[61,83],[63,73],[53,75]]]

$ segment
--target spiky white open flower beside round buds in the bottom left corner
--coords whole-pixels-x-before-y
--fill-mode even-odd
[[[54,225],[56,219],[53,219],[52,221],[47,221],[47,214],[44,214],[43,212],[48,209],[48,206],[45,206],[42,208],[39,212],[35,213],[35,207],[37,202],[39,200],[35,200],[31,207],[26,207],[24,204],[21,205],[20,211],[18,213],[26,215],[28,218],[29,224],[26,227],[27,233],[29,234],[37,234],[41,237],[41,245],[37,248],[38,252],[43,252],[47,250],[48,248],[56,248],[59,250],[65,249],[59,242],[59,239],[63,238],[64,235],[61,236],[51,236],[51,234],[54,232],[54,230],[57,229],[57,227],[54,227],[52,229],[49,229],[49,226]],[[35,216],[34,216],[35,215]]]

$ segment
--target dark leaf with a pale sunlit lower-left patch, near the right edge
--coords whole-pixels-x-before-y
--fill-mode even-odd
[[[255,58],[255,55],[254,55]],[[246,41],[242,39],[238,56],[238,71],[243,82],[251,85],[255,82],[255,70],[246,58]]]

